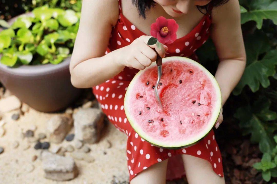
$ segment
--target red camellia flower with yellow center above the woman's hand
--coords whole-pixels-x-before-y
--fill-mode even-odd
[[[171,44],[177,39],[179,25],[173,19],[158,17],[156,22],[151,25],[151,36],[158,39],[162,44]]]

